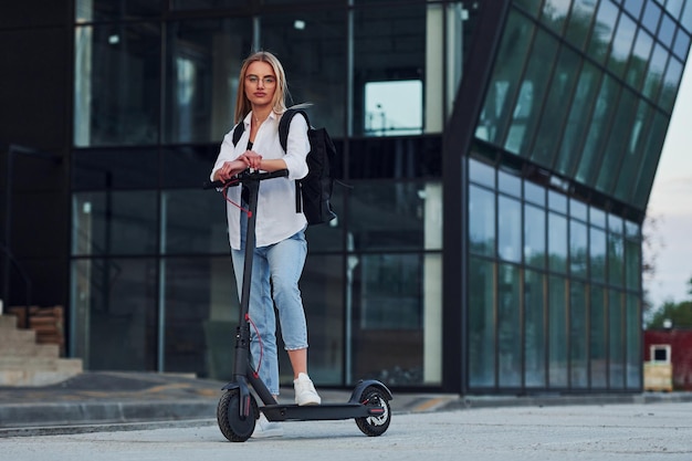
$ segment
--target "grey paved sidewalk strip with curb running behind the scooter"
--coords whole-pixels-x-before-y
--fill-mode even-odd
[[[167,425],[216,425],[216,409],[227,381],[190,375],[86,371],[43,387],[0,387],[0,438],[135,430]],[[345,402],[349,390],[317,388],[323,402]],[[292,401],[282,388],[280,401]],[[398,394],[392,415],[466,408],[564,405],[692,402],[692,392],[622,395],[459,396]]]

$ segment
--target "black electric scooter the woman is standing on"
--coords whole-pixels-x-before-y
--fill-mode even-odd
[[[391,409],[389,400],[394,397],[389,389],[375,379],[360,380],[350,399],[345,404],[322,404],[298,406],[279,404],[250,360],[250,283],[252,274],[253,250],[255,245],[255,213],[260,181],[289,176],[289,170],[252,171],[245,170],[228,182],[206,182],[205,188],[224,188],[244,185],[249,191],[248,233],[245,259],[240,300],[240,318],[235,332],[235,362],[233,380],[223,386],[224,394],[217,406],[217,421],[221,433],[231,442],[244,442],[252,436],[254,426],[264,413],[270,421],[316,421],[355,419],[356,426],[369,437],[381,436],[389,428]],[[251,388],[254,391],[251,392]],[[262,401],[258,405],[255,396]]]

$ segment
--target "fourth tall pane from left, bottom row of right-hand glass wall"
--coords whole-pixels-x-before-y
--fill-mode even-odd
[[[548,283],[548,387],[566,388],[569,358],[567,346],[567,281],[551,276]]]

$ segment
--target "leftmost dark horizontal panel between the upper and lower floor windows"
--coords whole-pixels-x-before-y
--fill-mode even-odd
[[[156,189],[158,153],[153,149],[74,150],[71,170],[75,190]]]

